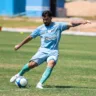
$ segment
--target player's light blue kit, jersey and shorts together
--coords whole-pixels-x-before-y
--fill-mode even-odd
[[[58,45],[61,38],[61,32],[66,30],[67,23],[52,22],[50,26],[44,24],[34,30],[30,35],[32,38],[41,37],[41,46],[38,52],[31,58],[37,64],[42,64],[44,61],[49,62],[58,60]]]

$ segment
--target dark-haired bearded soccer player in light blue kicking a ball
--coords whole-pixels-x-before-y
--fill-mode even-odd
[[[41,26],[36,28],[27,38],[25,38],[21,43],[15,46],[15,50],[21,48],[24,44],[28,43],[30,40],[40,36],[41,46],[37,53],[29,60],[27,64],[23,66],[19,73],[14,75],[10,82],[14,82],[19,76],[23,76],[24,73],[33,69],[44,61],[47,62],[47,67],[37,83],[36,88],[43,89],[43,83],[49,78],[52,73],[54,66],[58,60],[58,45],[61,38],[61,33],[70,27],[75,27],[81,24],[87,24],[89,21],[72,21],[67,22],[52,22],[52,13],[50,11],[44,11],[42,13],[43,23]]]

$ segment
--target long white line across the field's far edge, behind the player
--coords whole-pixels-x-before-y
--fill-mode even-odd
[[[24,29],[24,28],[2,28],[2,31],[10,32],[32,32],[34,29]],[[81,35],[81,36],[96,36],[96,32],[80,32],[80,31],[64,31],[62,34],[65,35]]]

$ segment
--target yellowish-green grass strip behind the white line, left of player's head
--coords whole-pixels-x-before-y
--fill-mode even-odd
[[[29,20],[30,18],[24,18],[24,17],[19,17],[20,20],[16,20],[16,18],[5,18],[0,17],[0,26],[2,27],[36,27],[42,24],[42,22],[38,21],[36,22],[36,19]],[[10,22],[10,23],[9,23]]]

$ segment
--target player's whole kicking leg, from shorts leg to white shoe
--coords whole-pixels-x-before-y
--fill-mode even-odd
[[[23,76],[24,73],[26,73],[27,71],[29,71],[30,69],[40,65],[41,63],[43,63],[46,60],[47,56],[44,52],[38,51],[30,60],[30,62],[26,65],[23,66],[23,68],[21,69],[21,71],[14,75],[11,79],[10,82],[14,82],[16,80],[16,78],[18,78],[19,76]]]

